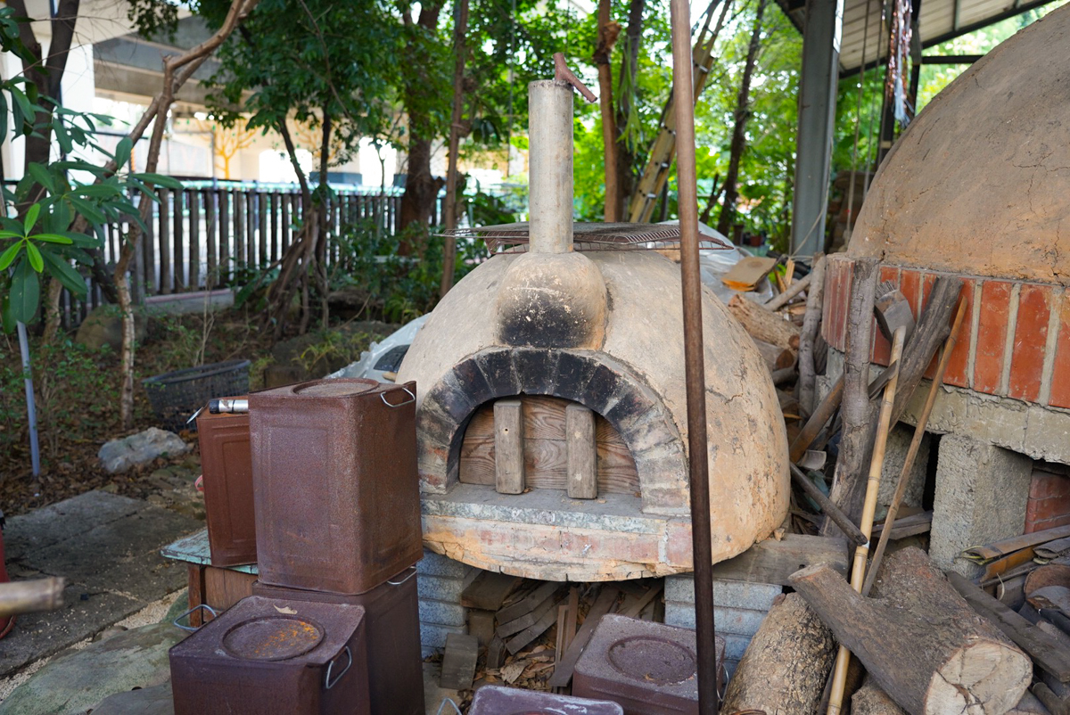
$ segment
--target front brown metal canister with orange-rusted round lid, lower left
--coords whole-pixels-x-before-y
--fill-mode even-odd
[[[364,608],[243,598],[172,646],[175,715],[369,715]]]

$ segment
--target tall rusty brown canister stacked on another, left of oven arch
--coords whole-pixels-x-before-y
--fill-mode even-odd
[[[340,379],[249,395],[262,582],[358,594],[421,559],[415,391]]]

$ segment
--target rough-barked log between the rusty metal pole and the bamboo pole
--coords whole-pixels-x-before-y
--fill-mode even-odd
[[[729,682],[725,713],[813,713],[836,657],[836,641],[797,593],[762,621]]]

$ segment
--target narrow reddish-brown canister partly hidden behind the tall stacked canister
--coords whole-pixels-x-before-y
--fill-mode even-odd
[[[242,396],[244,398],[244,396]],[[253,454],[247,413],[197,415],[208,545],[213,566],[257,562]]]

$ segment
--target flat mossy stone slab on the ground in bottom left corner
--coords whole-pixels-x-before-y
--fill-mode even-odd
[[[110,695],[165,683],[167,651],[184,636],[157,623],[57,657],[0,704],[0,715],[83,715]]]

